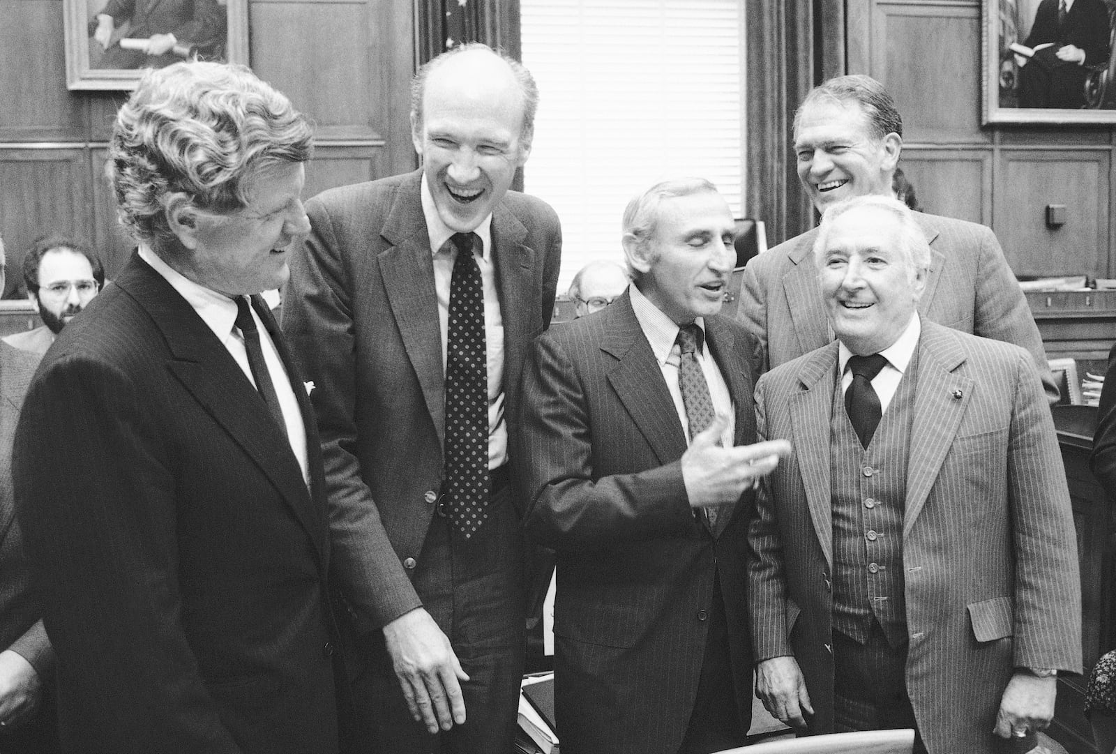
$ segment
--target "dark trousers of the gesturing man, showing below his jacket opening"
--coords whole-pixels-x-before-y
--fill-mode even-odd
[[[690,725],[679,754],[710,754],[743,746],[751,725],[751,721],[740,719],[740,705],[732,683],[729,624],[724,616],[720,576],[713,579],[713,602],[710,608],[698,696],[694,698]]]

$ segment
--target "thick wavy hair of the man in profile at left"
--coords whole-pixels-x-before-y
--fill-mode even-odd
[[[244,66],[153,69],[113,126],[108,173],[121,222],[161,250],[176,241],[166,219],[172,195],[201,210],[240,210],[246,178],[269,164],[308,161],[312,135],[306,116]]]

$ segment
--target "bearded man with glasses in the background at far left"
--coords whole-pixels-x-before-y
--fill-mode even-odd
[[[105,268],[84,243],[61,235],[38,239],[23,257],[27,298],[38,307],[42,325],[3,340],[33,354],[47,352],[55,336],[85,309],[105,283]]]

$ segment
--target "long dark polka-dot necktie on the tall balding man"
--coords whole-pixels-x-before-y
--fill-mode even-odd
[[[488,516],[488,359],[484,288],[473,255],[475,233],[454,233],[445,364],[445,494],[450,520],[465,538]]]

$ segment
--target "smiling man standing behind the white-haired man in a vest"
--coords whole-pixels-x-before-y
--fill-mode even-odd
[[[903,119],[891,94],[868,76],[815,87],[795,114],[798,178],[819,213],[849,196],[892,196]],[[1050,402],[1058,388],[1027,300],[992,231],[962,220],[915,214],[931,249],[923,319],[1022,346]],[[811,249],[817,229],[753,258],[744,269],[739,317],[759,339],[763,371],[833,341]]]

